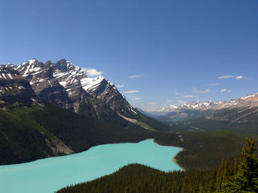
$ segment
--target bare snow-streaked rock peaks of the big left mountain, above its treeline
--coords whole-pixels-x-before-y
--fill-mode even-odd
[[[45,102],[96,118],[109,111],[133,113],[114,84],[103,76],[88,78],[83,69],[65,59],[45,64],[32,59],[19,65],[17,70]]]

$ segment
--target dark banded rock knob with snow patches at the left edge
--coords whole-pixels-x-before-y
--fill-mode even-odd
[[[12,65],[0,65],[0,107],[8,104],[29,105],[35,98],[28,80]]]

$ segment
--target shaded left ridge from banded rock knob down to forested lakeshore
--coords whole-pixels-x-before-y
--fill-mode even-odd
[[[97,144],[153,137],[144,129],[101,124],[37,98],[30,82],[0,67],[0,164],[68,155]],[[175,136],[176,137],[176,136]]]

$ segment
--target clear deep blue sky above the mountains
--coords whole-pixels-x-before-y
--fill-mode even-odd
[[[228,100],[258,91],[257,22],[256,0],[3,0],[0,63],[66,58],[142,109]]]

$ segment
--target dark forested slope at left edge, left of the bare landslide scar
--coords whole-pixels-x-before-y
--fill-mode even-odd
[[[54,156],[46,137],[25,115],[0,110],[0,164],[21,163]]]

